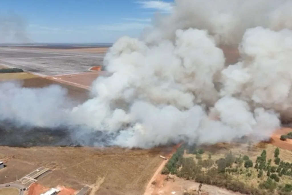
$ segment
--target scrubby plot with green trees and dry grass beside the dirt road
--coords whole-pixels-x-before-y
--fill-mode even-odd
[[[242,194],[292,194],[292,163],[280,158],[279,148],[271,153],[267,155],[263,149],[258,156],[232,151],[218,155],[196,146],[188,149],[182,146],[161,173]]]

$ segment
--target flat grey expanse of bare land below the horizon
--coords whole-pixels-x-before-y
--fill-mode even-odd
[[[40,76],[87,72],[92,66],[102,65],[103,57],[98,52],[0,47],[0,65],[22,68]]]

